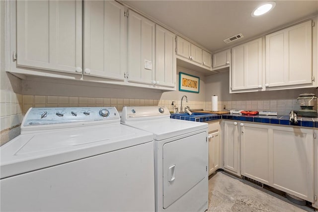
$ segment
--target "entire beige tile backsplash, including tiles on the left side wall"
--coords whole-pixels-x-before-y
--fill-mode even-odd
[[[9,141],[19,134],[19,125],[23,115],[30,107],[116,107],[121,111],[124,106],[166,106],[172,111],[172,101],[180,111],[180,100],[172,99],[125,99],[125,98],[92,98],[77,96],[44,96],[20,95],[12,91],[1,90],[0,95],[0,131],[1,144]],[[183,100],[183,107],[190,109],[211,110],[211,101]],[[300,106],[296,99],[261,100],[261,101],[219,101],[219,110],[242,109],[255,111],[277,111],[279,115],[288,115],[291,110],[298,110]],[[14,134],[9,131],[15,129]]]

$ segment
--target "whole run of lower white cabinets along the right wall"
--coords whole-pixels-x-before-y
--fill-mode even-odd
[[[309,128],[224,121],[224,170],[315,203],[314,133]]]

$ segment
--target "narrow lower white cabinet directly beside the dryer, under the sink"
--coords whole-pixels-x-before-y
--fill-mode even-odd
[[[220,168],[220,122],[209,124],[209,175]]]

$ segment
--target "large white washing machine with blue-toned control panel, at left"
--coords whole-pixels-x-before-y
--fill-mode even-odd
[[[0,147],[0,211],[154,211],[154,141],[116,108],[31,108]]]

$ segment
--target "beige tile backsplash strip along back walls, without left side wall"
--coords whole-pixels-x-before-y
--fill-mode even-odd
[[[39,96],[23,95],[22,112],[25,114],[30,107],[116,107],[121,111],[124,106],[166,106],[172,111],[172,99],[125,99],[125,98],[92,98],[92,97],[68,97],[68,96]],[[261,101],[219,101],[218,108],[242,109],[255,111],[277,111],[279,115],[288,115],[291,110],[299,110],[296,99],[261,100]],[[181,101],[174,101],[174,105],[180,111]],[[183,100],[183,107],[190,109],[211,110],[211,101]]]

